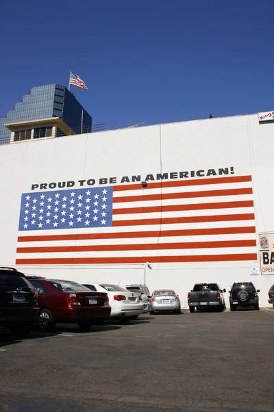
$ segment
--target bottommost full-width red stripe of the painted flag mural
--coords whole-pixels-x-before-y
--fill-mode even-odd
[[[172,263],[172,262],[231,262],[257,260],[256,253],[239,255],[197,255],[197,256],[145,256],[142,258],[51,258],[51,259],[16,259],[16,264],[122,264],[122,263]]]

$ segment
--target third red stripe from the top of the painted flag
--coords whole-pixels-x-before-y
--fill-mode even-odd
[[[153,213],[157,211],[181,211],[181,210],[202,210],[202,209],[229,209],[231,207],[253,207],[253,201],[240,202],[219,202],[219,203],[195,203],[193,205],[167,205],[167,206],[147,206],[147,207],[122,207],[113,209],[113,214],[138,214]]]

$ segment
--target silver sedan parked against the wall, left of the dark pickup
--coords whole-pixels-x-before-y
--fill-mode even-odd
[[[154,290],[151,295],[150,314],[158,312],[173,312],[181,314],[179,296],[172,289]]]

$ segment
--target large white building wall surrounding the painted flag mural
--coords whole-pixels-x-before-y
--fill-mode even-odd
[[[77,181],[184,170],[234,167],[234,176],[252,175],[256,231],[274,232],[272,190],[274,124],[259,124],[258,115],[197,120],[103,133],[25,141],[0,147],[1,266],[15,266],[21,194],[34,183]],[[197,179],[197,178],[196,178]],[[75,188],[78,188],[78,186]],[[257,236],[258,238],[258,236]],[[249,262],[193,262],[104,265],[22,265],[25,273],[123,284],[146,282],[149,289],[174,288],[186,306],[195,282],[251,280],[260,288],[260,305],[269,306],[271,275],[251,277]],[[228,294],[226,294],[226,297]]]

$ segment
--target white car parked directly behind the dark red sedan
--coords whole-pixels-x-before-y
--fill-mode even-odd
[[[129,290],[112,284],[84,284],[94,291],[107,292],[110,299],[112,312],[110,319],[118,319],[122,323],[127,323],[131,319],[137,319],[142,313],[143,304],[140,293],[129,292]]]

